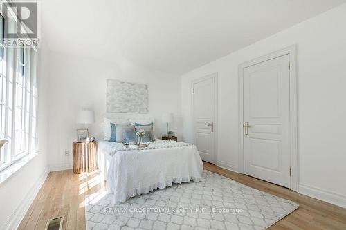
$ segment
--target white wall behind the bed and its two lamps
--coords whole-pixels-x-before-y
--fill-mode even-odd
[[[100,122],[106,113],[106,80],[120,79],[147,84],[149,89],[149,115],[154,118],[154,133],[161,137],[165,124],[161,124],[163,112],[174,113],[170,130],[181,137],[180,77],[134,66],[126,59],[116,62],[101,61],[58,52],[50,52],[49,60],[49,166],[51,170],[71,168],[72,142],[76,140],[75,115],[80,108],[95,110],[96,123],[89,126],[89,133],[100,135]]]

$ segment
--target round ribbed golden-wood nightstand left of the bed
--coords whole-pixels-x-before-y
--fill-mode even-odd
[[[73,173],[89,173],[98,169],[96,142],[73,142]]]

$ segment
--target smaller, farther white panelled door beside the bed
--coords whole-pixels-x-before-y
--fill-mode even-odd
[[[202,160],[215,164],[216,74],[193,83],[194,144]]]

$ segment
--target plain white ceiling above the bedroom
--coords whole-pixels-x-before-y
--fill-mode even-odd
[[[346,0],[44,0],[53,51],[185,73]]]

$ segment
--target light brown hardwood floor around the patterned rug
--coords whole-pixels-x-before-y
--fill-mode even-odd
[[[293,200],[300,207],[270,229],[346,229],[346,209],[300,195],[281,186],[233,173],[204,162],[204,168],[247,186],[280,198]],[[84,196],[105,189],[98,173],[73,174],[72,170],[49,173],[19,229],[44,229],[48,218],[64,215],[63,229],[85,229]]]

